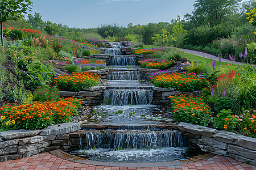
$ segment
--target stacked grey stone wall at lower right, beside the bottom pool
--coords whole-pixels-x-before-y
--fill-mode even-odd
[[[240,162],[256,165],[256,139],[229,131],[218,131],[181,122],[178,125],[189,141],[202,151],[230,156]]]

